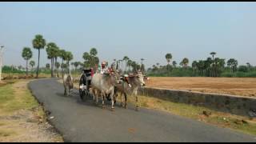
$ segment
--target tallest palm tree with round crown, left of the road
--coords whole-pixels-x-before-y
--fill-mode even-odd
[[[32,41],[34,49],[38,50],[38,69],[37,69],[37,77],[38,78],[38,70],[39,70],[39,62],[40,62],[40,49],[44,49],[46,46],[46,40],[42,37],[42,35],[37,34]]]

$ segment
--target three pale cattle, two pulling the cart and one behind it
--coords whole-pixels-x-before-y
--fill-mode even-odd
[[[69,95],[73,90],[74,80],[70,74],[63,77],[65,95]],[[105,108],[106,98],[111,101],[111,110],[114,110],[116,98],[120,94],[121,106],[127,108],[127,96],[134,96],[136,100],[136,109],[138,110],[138,89],[145,86],[144,76],[142,72],[126,75],[126,77],[118,70],[113,70],[108,74],[95,73],[90,81],[90,94],[93,96],[94,102],[98,104],[98,97],[102,99],[102,108]],[[122,102],[122,95],[125,102]]]

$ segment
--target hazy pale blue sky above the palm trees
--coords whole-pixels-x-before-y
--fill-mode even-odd
[[[256,2],[0,2],[4,63],[23,65],[35,34],[70,50],[74,61],[98,50],[100,61],[129,58],[146,67],[182,58],[236,58],[256,65]],[[32,59],[37,63],[38,51]],[[42,50],[41,66],[50,60]]]

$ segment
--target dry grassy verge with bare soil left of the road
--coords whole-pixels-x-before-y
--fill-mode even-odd
[[[0,142],[63,142],[46,122],[28,82],[15,80],[0,87]]]

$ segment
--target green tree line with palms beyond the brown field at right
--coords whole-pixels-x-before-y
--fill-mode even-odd
[[[166,66],[160,66],[157,62],[147,70],[152,76],[203,76],[203,77],[256,77],[256,67],[251,66],[249,62],[245,65],[238,66],[238,60],[230,58],[215,58],[216,52],[211,52],[210,56],[204,60],[193,61],[191,66],[189,58],[183,58],[177,66],[173,61],[172,54],[165,55]]]

